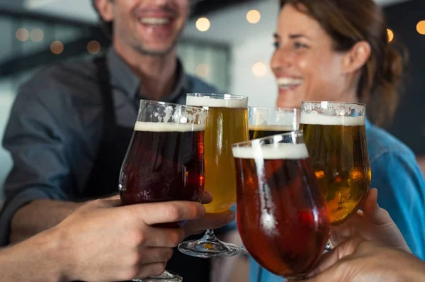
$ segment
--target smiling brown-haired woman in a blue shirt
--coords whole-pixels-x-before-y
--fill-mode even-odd
[[[388,42],[380,6],[373,0],[281,0],[280,8],[271,59],[279,90],[276,106],[367,103],[370,187],[381,191],[380,207],[390,213],[412,252],[424,258],[424,177],[412,151],[368,120],[382,124],[392,118],[404,67],[402,55]],[[252,262],[251,281],[283,281]]]

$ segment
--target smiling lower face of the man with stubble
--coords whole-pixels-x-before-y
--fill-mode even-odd
[[[188,0],[108,1],[113,5],[114,41],[147,55],[173,50],[189,13]]]

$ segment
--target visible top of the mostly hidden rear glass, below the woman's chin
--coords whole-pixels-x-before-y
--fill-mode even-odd
[[[296,108],[248,108],[249,139],[298,130],[300,110]]]

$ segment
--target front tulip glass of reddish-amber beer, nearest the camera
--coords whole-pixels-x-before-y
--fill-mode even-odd
[[[233,145],[237,223],[249,254],[268,271],[305,278],[329,237],[329,211],[302,132]]]

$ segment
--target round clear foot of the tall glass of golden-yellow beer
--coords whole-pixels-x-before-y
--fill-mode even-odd
[[[189,256],[208,259],[210,257],[236,256],[239,248],[234,244],[226,244],[215,238],[213,241],[199,239],[183,242],[179,244],[179,251]]]

